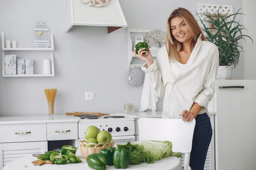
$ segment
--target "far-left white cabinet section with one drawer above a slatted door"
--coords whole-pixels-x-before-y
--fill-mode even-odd
[[[47,151],[46,124],[0,124],[0,170],[17,159]]]

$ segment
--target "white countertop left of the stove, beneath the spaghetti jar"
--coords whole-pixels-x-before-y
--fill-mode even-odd
[[[55,123],[55,122],[78,122],[73,115],[35,115],[35,116],[3,116],[0,124],[27,124],[27,123]]]

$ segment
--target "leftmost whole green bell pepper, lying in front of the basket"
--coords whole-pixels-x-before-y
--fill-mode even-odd
[[[86,162],[88,166],[94,170],[105,170],[107,159],[99,153],[88,155]]]

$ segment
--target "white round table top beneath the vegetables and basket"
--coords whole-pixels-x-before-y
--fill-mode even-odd
[[[81,156],[80,150],[77,150],[78,156],[82,163],[70,163],[67,161],[64,165],[44,164],[42,166],[34,166],[32,161],[36,161],[37,157],[29,156],[22,157],[7,163],[3,170],[92,170],[89,168],[87,162]],[[180,160],[175,157],[165,157],[154,163],[141,163],[139,165],[129,165],[128,170],[182,170]],[[106,170],[116,170],[114,166],[107,166]]]

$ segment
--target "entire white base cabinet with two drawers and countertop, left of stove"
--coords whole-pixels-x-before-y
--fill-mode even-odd
[[[0,170],[19,157],[78,146],[78,119],[65,115],[0,117]],[[23,165],[21,165],[23,166]]]

